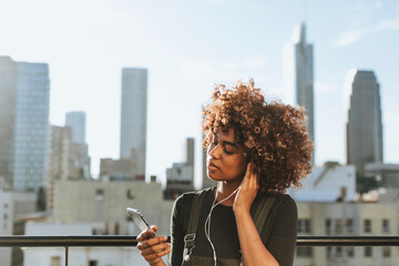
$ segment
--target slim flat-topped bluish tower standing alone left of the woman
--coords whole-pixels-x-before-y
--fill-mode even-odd
[[[122,70],[121,158],[137,160],[137,177],[145,176],[147,70]]]

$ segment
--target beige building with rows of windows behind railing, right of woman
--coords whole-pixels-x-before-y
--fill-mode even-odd
[[[395,204],[304,203],[298,205],[298,235],[380,236],[398,234]],[[297,266],[398,265],[398,247],[297,247]]]

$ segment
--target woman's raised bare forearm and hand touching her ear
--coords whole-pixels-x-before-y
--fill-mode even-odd
[[[255,173],[252,164],[248,164],[233,205],[242,255],[246,266],[278,265],[275,257],[263,244],[249,213],[258,190],[259,174]]]

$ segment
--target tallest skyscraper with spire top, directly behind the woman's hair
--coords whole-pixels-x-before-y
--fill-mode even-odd
[[[315,106],[314,106],[314,55],[313,44],[306,42],[305,23],[294,30],[293,41],[284,48],[285,83],[289,94],[295,94],[296,104],[305,108],[306,126],[310,139],[315,140]],[[315,162],[315,152],[311,162]]]

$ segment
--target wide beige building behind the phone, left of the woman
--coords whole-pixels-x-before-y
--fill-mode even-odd
[[[150,224],[168,234],[173,201],[164,201],[161,184],[142,181],[59,181],[53,215],[58,222],[130,222],[126,207],[142,212]]]

